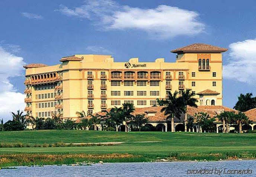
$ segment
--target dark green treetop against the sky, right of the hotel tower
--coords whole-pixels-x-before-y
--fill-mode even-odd
[[[252,97],[252,93],[240,94],[234,109],[241,112],[256,108],[256,97]]]

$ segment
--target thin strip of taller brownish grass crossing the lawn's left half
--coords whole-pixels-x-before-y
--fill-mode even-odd
[[[90,146],[114,146],[117,144],[93,144],[93,143],[54,143],[54,144],[28,144],[28,143],[21,143],[21,142],[16,142],[16,143],[8,143],[8,142],[1,142],[0,143],[0,148],[29,148],[29,147],[34,147],[34,148],[48,148],[48,147],[90,147]]]

